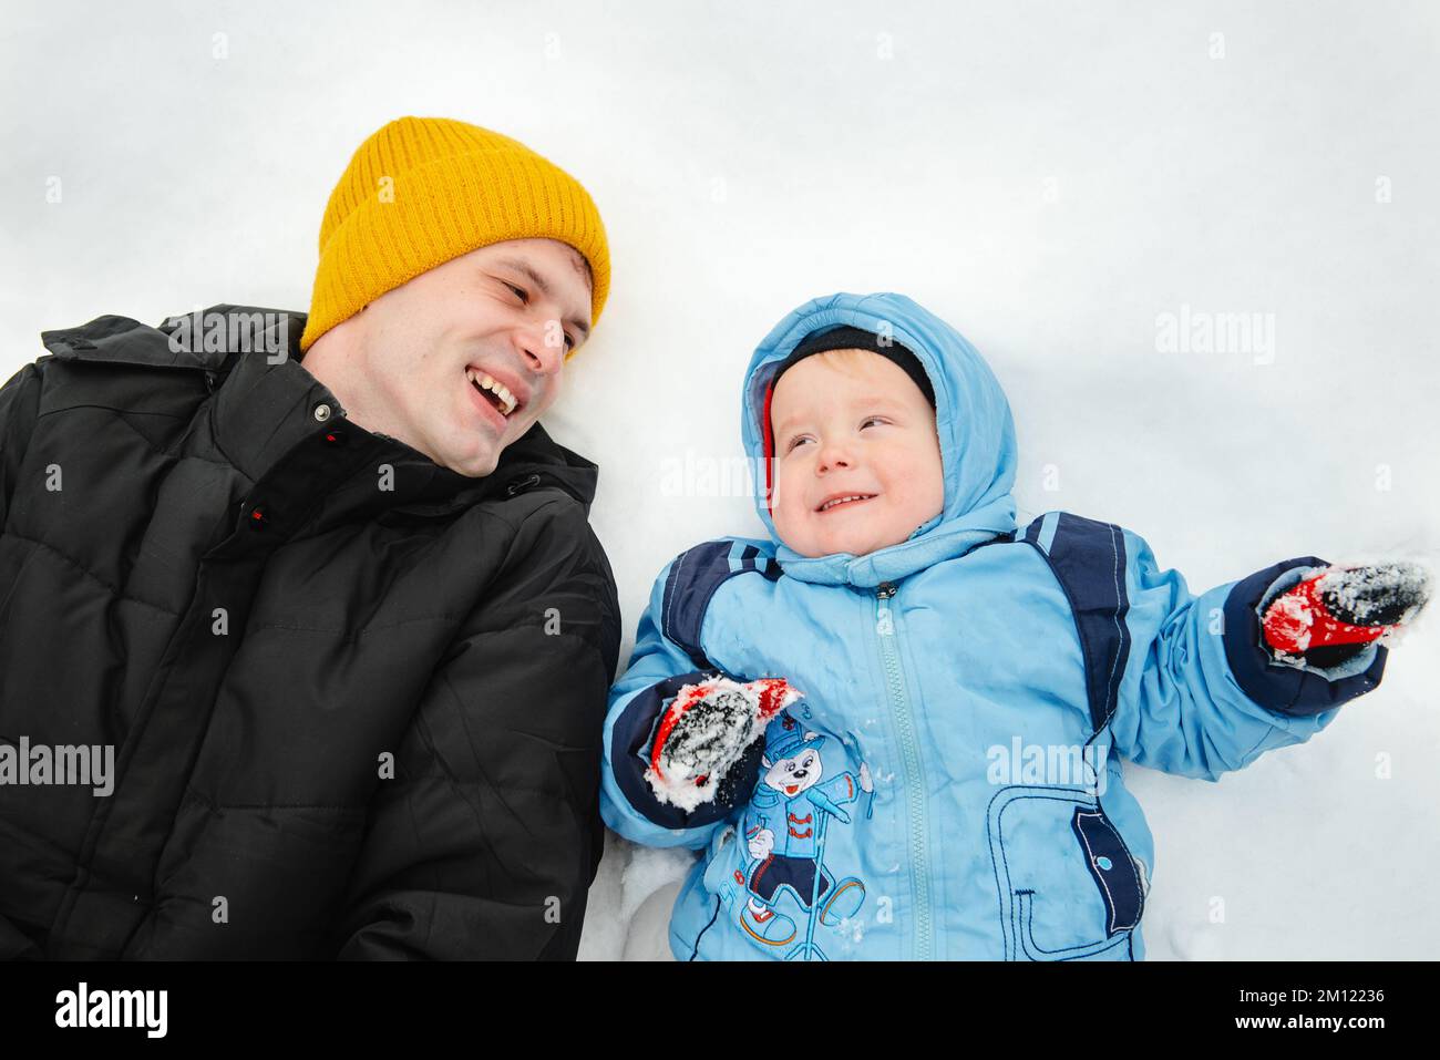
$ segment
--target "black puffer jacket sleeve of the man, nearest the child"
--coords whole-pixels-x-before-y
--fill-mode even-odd
[[[380,781],[338,958],[575,959],[618,654],[615,579],[583,510],[537,510]]]

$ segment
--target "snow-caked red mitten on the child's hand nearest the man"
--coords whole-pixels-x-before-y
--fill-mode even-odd
[[[655,798],[690,811],[711,802],[730,768],[782,709],[802,696],[783,677],[687,684],[660,719],[645,779]]]

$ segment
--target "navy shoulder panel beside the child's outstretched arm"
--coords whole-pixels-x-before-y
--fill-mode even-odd
[[[1090,723],[1100,732],[1119,703],[1120,681],[1130,658],[1130,609],[1125,590],[1125,533],[1115,523],[1058,513],[1056,536],[1047,553],[1040,547],[1041,518],[1025,529],[1025,539],[1045,557],[1070,602],[1084,657],[1086,699]]]

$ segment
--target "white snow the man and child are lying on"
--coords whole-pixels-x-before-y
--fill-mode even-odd
[[[294,4],[12,0],[6,376],[40,330],[107,313],[305,308],[356,145],[448,115],[564,166],[605,217],[609,304],[546,426],[600,465],[622,664],[668,559],[762,533],[714,487],[743,457],[742,373],[834,291],[909,294],[986,356],[1021,521],[1120,523],[1195,592],[1293,556],[1437,554],[1433,6],[406,10],[423,33],[370,0],[314,49],[334,27]],[[56,55],[85,78],[56,79]],[[1266,327],[1250,349],[1162,334],[1197,314]],[[1151,959],[1440,951],[1434,611],[1305,746],[1215,785],[1125,765],[1156,843]],[[611,837],[582,956],[665,956],[693,857]]]

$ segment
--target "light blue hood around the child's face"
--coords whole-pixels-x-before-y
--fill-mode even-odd
[[[775,370],[816,331],[858,327],[888,334],[920,360],[935,387],[935,426],[945,474],[945,507],[897,544],[854,556],[806,557],[786,546],[770,520],[766,415]],[[742,436],[756,474],[755,510],[776,544],[776,560],[802,582],[877,586],[960,556],[1015,530],[1015,422],[999,380],[953,327],[901,294],[832,294],[789,313],[750,359],[742,400]]]

